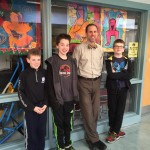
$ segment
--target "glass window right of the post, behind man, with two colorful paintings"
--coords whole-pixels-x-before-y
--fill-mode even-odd
[[[121,9],[105,8],[101,6],[92,6],[77,3],[65,3],[52,0],[52,50],[57,53],[55,48],[55,37],[60,33],[68,33],[72,40],[70,44],[70,53],[73,52],[75,46],[86,40],[85,26],[86,23],[96,23],[99,28],[98,43],[103,47],[105,54],[104,59],[107,59],[113,54],[113,42],[116,38],[121,38],[125,41],[124,55],[128,56],[129,43],[139,42],[141,13],[136,11],[128,11]],[[113,32],[112,32],[113,31]],[[139,44],[139,43],[138,43]],[[139,46],[140,47],[140,46]],[[140,50],[138,50],[140,54]],[[139,58],[130,58],[133,63],[132,78],[138,78],[137,67],[139,65]],[[105,62],[102,70],[101,78],[101,105],[100,118],[107,119],[107,90],[106,82],[106,68]],[[137,89],[131,87],[128,94],[126,112],[134,112],[137,101],[137,95],[131,96],[131,92],[135,93]],[[133,102],[134,101],[134,102]],[[77,107],[77,108],[76,108]],[[75,107],[74,126],[82,124],[82,115],[79,106]]]

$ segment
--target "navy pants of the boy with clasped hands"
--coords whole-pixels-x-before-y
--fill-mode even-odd
[[[44,150],[47,111],[43,114],[25,112],[25,147],[27,150]]]

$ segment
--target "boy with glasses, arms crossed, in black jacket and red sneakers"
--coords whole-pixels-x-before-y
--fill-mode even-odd
[[[130,87],[131,61],[123,56],[125,42],[122,39],[114,41],[114,55],[106,60],[108,93],[109,132],[106,141],[113,143],[125,136],[121,131],[123,114],[126,105],[127,92]]]

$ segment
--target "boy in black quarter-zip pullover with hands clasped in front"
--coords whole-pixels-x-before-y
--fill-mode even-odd
[[[25,111],[25,148],[44,150],[47,119],[47,99],[44,92],[45,70],[41,65],[41,52],[31,49],[27,62],[30,64],[21,72],[18,84],[18,96]]]

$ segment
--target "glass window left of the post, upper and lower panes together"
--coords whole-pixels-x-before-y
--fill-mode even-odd
[[[0,1],[0,93],[17,92],[31,48],[42,49],[40,0]],[[0,144],[24,139],[19,102],[0,104]]]

